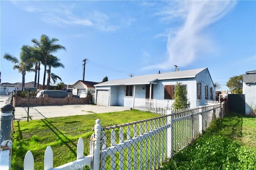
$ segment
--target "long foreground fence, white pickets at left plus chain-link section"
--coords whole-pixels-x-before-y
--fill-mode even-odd
[[[110,127],[102,127],[97,119],[90,139],[90,155],[84,157],[84,143],[80,138],[77,160],[53,168],[53,152],[48,146],[44,154],[44,169],[158,169],[206,130],[212,120],[222,117],[222,108],[224,103],[168,111],[168,114],[160,117]],[[33,169],[34,158],[28,151],[24,170]]]

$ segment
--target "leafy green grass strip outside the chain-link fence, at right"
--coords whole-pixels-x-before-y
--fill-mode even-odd
[[[256,117],[232,113],[214,121],[162,170],[256,169]]]

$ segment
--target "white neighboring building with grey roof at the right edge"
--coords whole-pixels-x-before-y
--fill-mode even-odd
[[[242,75],[242,80],[245,114],[248,115],[252,110],[256,111],[256,70],[247,71],[245,75]]]

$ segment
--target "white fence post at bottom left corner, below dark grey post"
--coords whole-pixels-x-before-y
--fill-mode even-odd
[[[4,140],[1,143],[0,170],[11,169],[12,140]]]

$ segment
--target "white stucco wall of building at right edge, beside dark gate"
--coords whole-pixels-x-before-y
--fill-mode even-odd
[[[248,115],[252,109],[256,109],[256,83],[243,83],[243,94],[245,97],[245,114]]]

